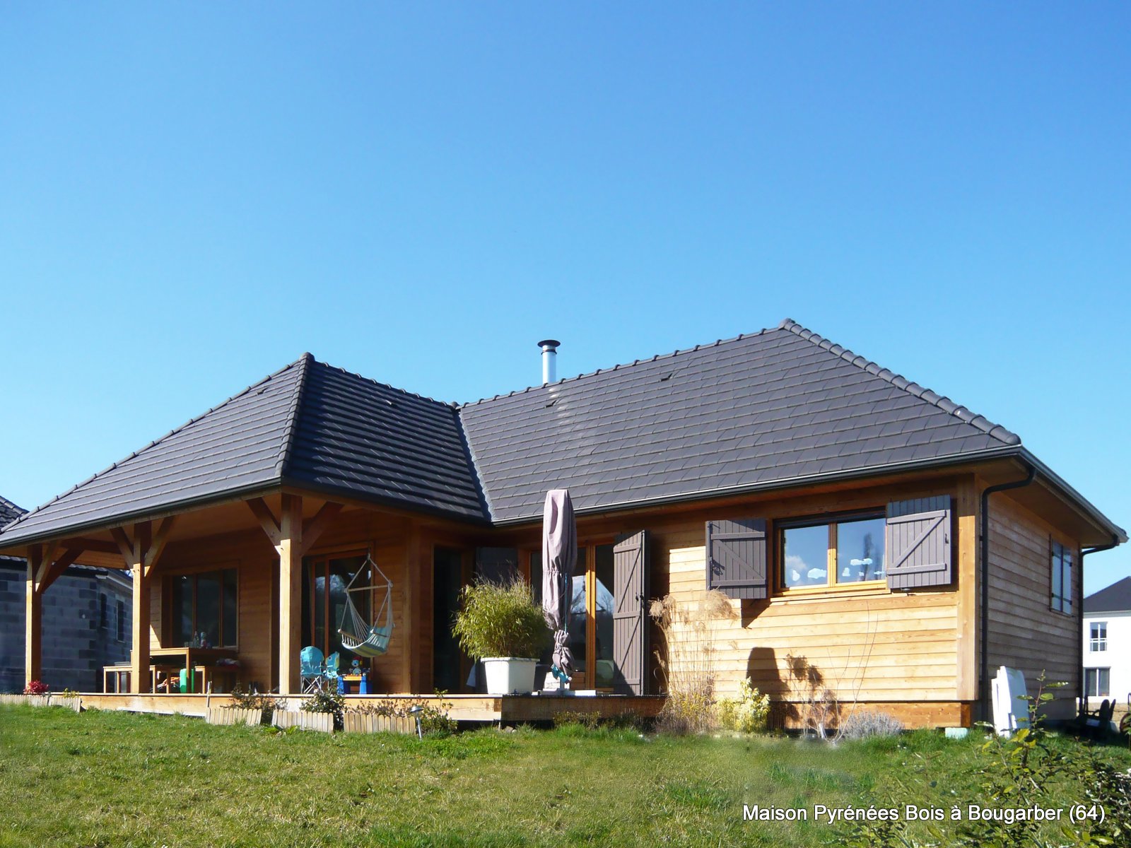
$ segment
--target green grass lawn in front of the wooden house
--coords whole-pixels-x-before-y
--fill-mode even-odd
[[[979,744],[577,726],[418,741],[0,707],[0,846],[828,845],[843,827],[743,821],[743,804],[949,808],[979,797]]]

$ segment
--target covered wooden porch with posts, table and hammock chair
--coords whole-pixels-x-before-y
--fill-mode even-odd
[[[433,651],[435,552],[446,562],[455,557],[449,577],[463,582],[483,533],[299,490],[64,530],[9,548],[27,559],[25,678],[42,675],[44,594],[68,565],[81,562],[127,571],[132,582],[129,665],[107,667],[103,692],[89,693],[105,695],[106,703],[147,695],[137,702],[146,709],[158,703],[154,699],[189,704],[236,685],[297,695],[307,646],[323,656],[337,652],[344,673],[365,675],[371,695],[431,693],[438,665],[446,682],[460,682],[468,668],[450,644],[440,657]],[[392,634],[387,651],[373,658],[343,649],[338,633],[344,587],[368,560],[391,581],[391,589],[377,587],[372,597],[354,595],[364,615],[381,607],[379,592],[388,595]],[[443,591],[451,594],[447,586]]]

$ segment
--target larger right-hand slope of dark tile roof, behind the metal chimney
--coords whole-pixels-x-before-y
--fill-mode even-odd
[[[461,410],[495,521],[960,459],[1020,444],[962,406],[786,320]]]

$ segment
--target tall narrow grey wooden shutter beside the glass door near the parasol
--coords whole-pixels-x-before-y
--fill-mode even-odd
[[[648,667],[648,531],[613,546],[613,687],[642,695]]]

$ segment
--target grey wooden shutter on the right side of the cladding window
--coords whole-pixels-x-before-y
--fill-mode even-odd
[[[950,495],[889,503],[884,542],[889,589],[948,586]]]

